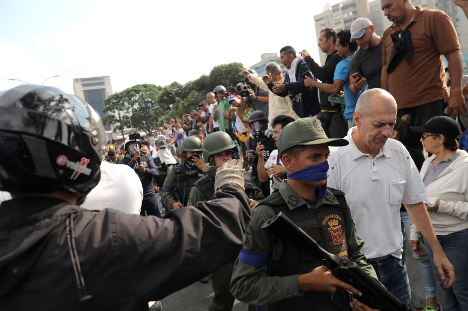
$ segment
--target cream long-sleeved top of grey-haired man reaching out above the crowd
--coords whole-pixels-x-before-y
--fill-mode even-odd
[[[268,128],[271,128],[271,122],[279,115],[286,115],[293,117],[295,120],[300,119],[299,116],[293,110],[293,102],[289,96],[281,97],[269,90],[265,82],[257,75],[251,75],[249,81],[261,88],[264,91],[268,91]],[[284,77],[280,81],[284,82]]]

